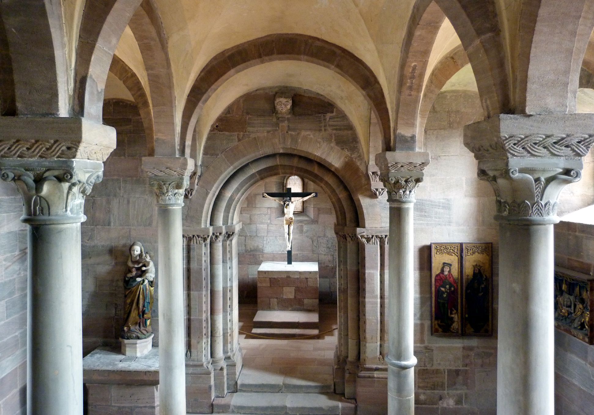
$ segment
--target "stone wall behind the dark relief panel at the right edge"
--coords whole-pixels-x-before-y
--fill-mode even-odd
[[[593,274],[594,225],[567,221],[555,225],[555,265],[584,274]],[[556,415],[592,413],[592,373],[594,346],[589,346],[561,330],[555,330]]]

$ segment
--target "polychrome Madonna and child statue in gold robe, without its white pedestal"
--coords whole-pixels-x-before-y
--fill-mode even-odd
[[[130,245],[128,273],[124,277],[125,314],[121,338],[143,339],[153,329],[150,325],[154,293],[154,264],[143,244]]]

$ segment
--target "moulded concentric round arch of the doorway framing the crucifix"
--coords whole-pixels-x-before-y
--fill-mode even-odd
[[[211,225],[239,220],[242,201],[261,180],[280,175],[299,175],[320,186],[330,198],[339,226],[358,226],[355,201],[336,173],[317,161],[294,154],[270,154],[246,163],[225,182],[213,202]]]

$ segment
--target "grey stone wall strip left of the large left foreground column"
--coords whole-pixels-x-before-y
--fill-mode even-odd
[[[26,413],[27,226],[12,183],[0,182],[0,414]]]

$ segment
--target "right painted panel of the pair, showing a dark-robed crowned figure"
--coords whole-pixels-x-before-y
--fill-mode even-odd
[[[493,244],[462,243],[462,334],[493,334]]]

